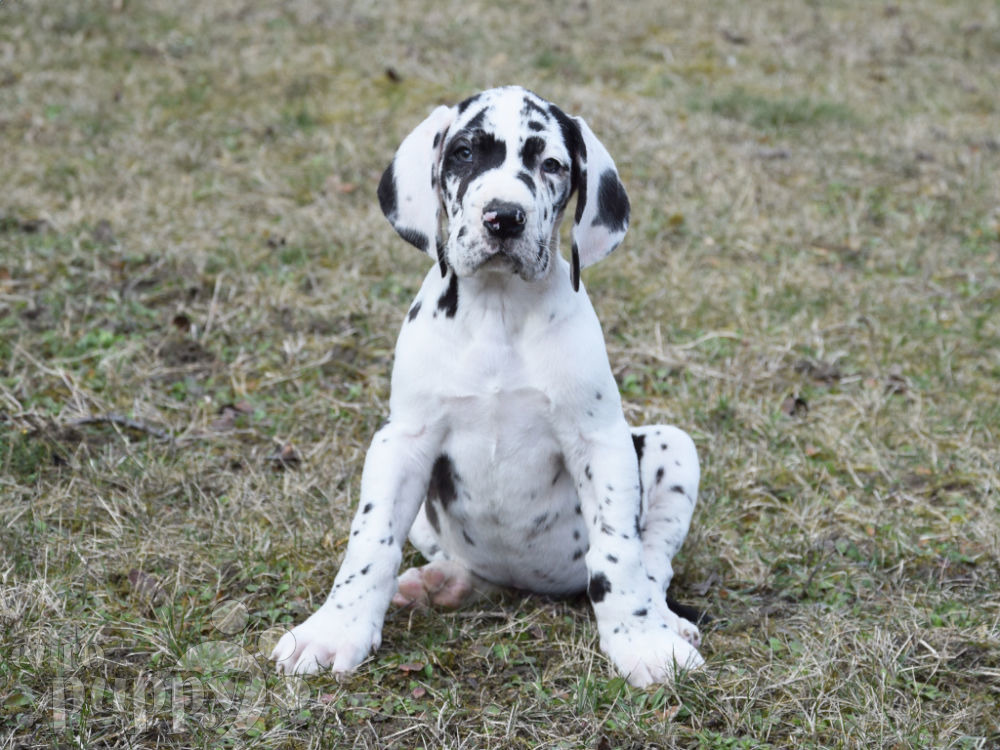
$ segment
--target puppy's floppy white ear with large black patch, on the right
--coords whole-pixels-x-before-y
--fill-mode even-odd
[[[580,288],[580,269],[618,247],[628,230],[629,203],[611,154],[580,117],[579,194],[573,224],[573,289]]]

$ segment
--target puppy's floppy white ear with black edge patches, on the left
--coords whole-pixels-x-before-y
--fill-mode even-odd
[[[453,107],[438,107],[400,144],[378,184],[382,213],[411,245],[437,251],[438,165],[444,136],[455,119]],[[440,259],[439,259],[440,260]]]

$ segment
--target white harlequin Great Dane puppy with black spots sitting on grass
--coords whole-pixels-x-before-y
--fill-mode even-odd
[[[558,230],[574,192],[567,263]],[[586,590],[601,649],[633,685],[702,664],[697,628],[665,602],[697,453],[676,427],[629,429],[580,285],[628,226],[607,150],[582,119],[494,89],[435,109],[378,197],[437,263],[403,321],[390,420],[333,590],[278,642],[279,669],[353,670],[390,601],[457,606],[491,586]],[[428,563],[397,581],[407,534]]]

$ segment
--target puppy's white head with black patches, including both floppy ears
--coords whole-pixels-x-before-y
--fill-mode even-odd
[[[510,86],[431,112],[396,151],[378,197],[403,239],[436,253],[442,274],[449,266],[459,276],[491,269],[532,281],[549,269],[574,192],[578,288],[580,268],[624,238],[628,196],[611,155],[582,119]]]

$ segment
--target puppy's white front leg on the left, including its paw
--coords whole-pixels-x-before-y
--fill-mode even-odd
[[[375,434],[333,588],[312,616],[278,641],[271,658],[279,671],[349,672],[379,647],[403,543],[427,493],[435,445],[426,427],[414,431],[389,423]]]

